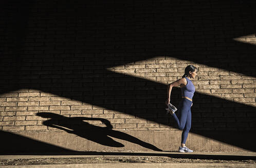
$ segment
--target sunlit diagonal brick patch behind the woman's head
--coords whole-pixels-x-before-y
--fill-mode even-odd
[[[107,68],[107,70],[168,85],[181,78],[188,65],[198,68],[198,76],[193,80],[197,93],[238,103],[242,101],[243,104],[256,107],[254,93],[256,85],[253,83],[256,77],[193,61],[162,56]]]

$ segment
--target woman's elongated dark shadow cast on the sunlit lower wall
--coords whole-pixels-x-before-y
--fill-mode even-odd
[[[139,144],[144,148],[148,148],[154,151],[162,151],[158,149],[156,146],[150,143],[144,142],[129,134],[112,130],[113,126],[111,125],[111,122],[109,122],[107,119],[104,119],[104,118],[65,117],[59,114],[48,113],[48,112],[37,113],[36,115],[41,116],[43,118],[50,118],[49,120],[43,121],[43,124],[48,127],[64,130],[68,133],[78,135],[82,138],[94,141],[102,145],[112,146],[117,148],[123,147],[124,145],[122,143],[117,142],[111,138],[111,137],[114,137],[114,138]],[[85,122],[84,120],[98,120],[98,121],[101,121],[103,124],[105,124],[106,127],[99,127],[96,125],[92,125],[92,124],[89,124],[88,122]]]

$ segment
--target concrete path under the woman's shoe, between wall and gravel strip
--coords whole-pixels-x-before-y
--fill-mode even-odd
[[[41,153],[41,154],[9,154],[0,155],[0,159],[34,159],[34,158],[77,158],[77,157],[115,157],[115,156],[168,156],[174,158],[193,159],[228,159],[228,160],[256,160],[255,152],[75,152],[75,153]]]

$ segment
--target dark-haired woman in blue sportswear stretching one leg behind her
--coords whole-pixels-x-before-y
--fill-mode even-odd
[[[197,75],[197,68],[189,65],[185,68],[185,74],[181,79],[178,79],[168,85],[167,88],[167,100],[166,104],[170,103],[170,96],[173,87],[180,86],[181,87],[181,96],[182,99],[179,103],[177,114],[174,112],[170,113],[175,121],[177,122],[178,128],[182,131],[181,135],[181,145],[179,147],[179,152],[193,152],[188,149],[185,145],[189,130],[191,128],[191,106],[192,106],[192,98],[195,92],[195,87],[191,81],[191,79],[195,78]]]

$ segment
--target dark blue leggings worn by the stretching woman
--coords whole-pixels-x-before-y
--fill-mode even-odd
[[[186,143],[189,130],[191,128],[191,105],[192,101],[182,98],[177,112],[173,114],[173,118],[177,122],[178,129],[183,130],[181,135],[181,143]]]

